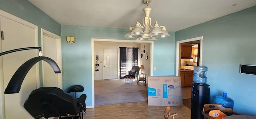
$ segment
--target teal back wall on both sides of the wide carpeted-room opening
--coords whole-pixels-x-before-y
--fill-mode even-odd
[[[63,90],[75,84],[84,86],[80,94],[86,94],[86,105],[92,105],[91,39],[127,40],[124,37],[127,30],[61,25]],[[172,37],[154,41],[154,67],[157,67],[154,76],[174,76],[174,32],[170,35]],[[67,43],[66,36],[74,36],[76,42]]]

